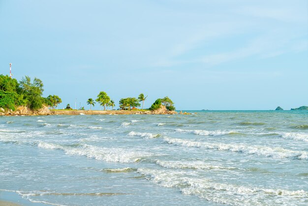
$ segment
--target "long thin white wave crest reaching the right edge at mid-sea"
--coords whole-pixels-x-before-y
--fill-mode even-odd
[[[266,157],[275,158],[288,158],[297,157],[298,159],[308,159],[308,152],[306,151],[293,151],[280,147],[267,147],[267,146],[250,146],[246,144],[225,144],[225,143],[209,143],[198,142],[186,139],[164,137],[164,141],[169,144],[182,145],[187,147],[200,147],[205,149],[228,150],[232,152],[243,152],[245,154],[256,154]]]

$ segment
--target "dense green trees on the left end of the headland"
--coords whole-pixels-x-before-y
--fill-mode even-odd
[[[62,100],[56,96],[43,98],[43,82],[34,78],[31,82],[29,76],[25,76],[20,82],[8,75],[0,75],[0,107],[15,110],[16,106],[28,106],[31,109],[39,109],[42,104],[57,106]]]

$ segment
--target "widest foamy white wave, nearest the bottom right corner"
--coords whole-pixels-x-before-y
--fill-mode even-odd
[[[290,200],[308,201],[308,192],[304,190],[292,191],[216,183],[211,179],[191,178],[183,172],[174,171],[140,168],[137,172],[160,186],[178,188],[185,195],[194,195],[221,204],[247,206],[286,204]]]

